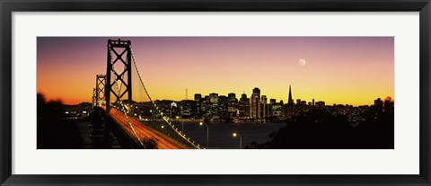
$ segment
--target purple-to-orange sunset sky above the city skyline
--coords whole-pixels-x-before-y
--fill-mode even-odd
[[[106,73],[107,41],[131,40],[154,100],[259,87],[268,100],[371,105],[394,97],[393,37],[38,37],[37,87],[66,104],[92,102]],[[301,64],[303,58],[305,63]],[[133,100],[148,101],[132,67]],[[127,98],[126,98],[127,99]]]

